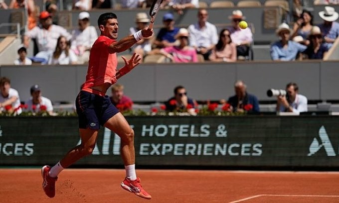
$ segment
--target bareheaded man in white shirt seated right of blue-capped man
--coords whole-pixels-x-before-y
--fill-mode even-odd
[[[206,9],[198,10],[198,22],[188,26],[189,43],[198,54],[202,54],[205,60],[209,59],[212,49],[218,42],[216,26],[208,22]]]

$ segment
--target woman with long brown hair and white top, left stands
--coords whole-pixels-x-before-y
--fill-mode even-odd
[[[48,64],[67,65],[77,64],[77,57],[70,49],[70,42],[64,36],[60,36],[55,47],[55,51],[50,56]]]

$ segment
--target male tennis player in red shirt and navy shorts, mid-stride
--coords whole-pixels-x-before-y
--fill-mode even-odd
[[[116,14],[101,14],[98,26],[101,34],[91,48],[86,81],[76,98],[81,144],[71,149],[55,166],[42,167],[42,188],[49,198],[55,196],[55,181],[58,174],[80,158],[92,153],[100,125],[103,125],[121,138],[121,156],[126,170],[126,178],[121,187],[139,197],[151,199],[151,195],[143,189],[135,172],[134,131],[105,93],[112,84],[141,61],[138,54],[133,54],[129,60],[123,57],[125,66],[117,71],[116,53],[129,49],[144,37],[152,36],[153,29],[146,27],[117,42],[119,25]]]

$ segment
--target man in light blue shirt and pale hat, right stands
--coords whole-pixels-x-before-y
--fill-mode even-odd
[[[282,23],[276,30],[277,35],[281,38],[271,45],[271,59],[274,61],[294,61],[306,50],[307,46],[290,39],[290,27],[286,23]]]

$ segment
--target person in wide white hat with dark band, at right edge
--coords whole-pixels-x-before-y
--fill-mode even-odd
[[[330,49],[339,36],[339,23],[336,22],[339,14],[334,7],[325,6],[324,10],[319,12],[319,16],[324,22],[318,26],[324,35],[325,45]]]

